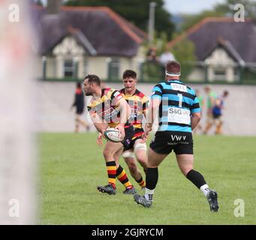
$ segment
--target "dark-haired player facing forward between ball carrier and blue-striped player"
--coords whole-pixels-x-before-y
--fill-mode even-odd
[[[142,127],[143,116],[146,117],[146,113],[149,107],[149,99],[136,89],[137,85],[137,74],[132,70],[126,70],[122,75],[123,83],[125,88],[121,89],[119,92],[122,94],[122,97],[125,98],[129,106],[131,107],[131,116],[129,122],[134,125],[134,136],[131,139],[130,145],[125,145],[123,152],[115,154],[115,160],[120,157],[124,157],[125,162],[127,163],[128,169],[131,173],[131,176],[135,181],[140,185],[140,187],[146,187],[143,176],[140,172],[140,169],[137,166],[137,161],[140,163],[140,166],[143,167],[144,172],[146,172],[147,164],[147,154],[146,154],[146,143],[142,142],[142,134],[144,133]],[[97,139],[98,145],[102,145],[102,134],[99,133]],[[137,159],[135,159],[134,157]],[[122,172],[120,172],[120,177],[122,179]],[[117,173],[119,177],[119,172]],[[119,179],[120,180],[120,179]]]

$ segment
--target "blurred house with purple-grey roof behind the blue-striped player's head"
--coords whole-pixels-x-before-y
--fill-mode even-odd
[[[197,62],[188,80],[239,82],[243,68],[256,73],[256,24],[253,20],[236,23],[233,18],[206,17],[185,34],[168,43],[174,46],[184,37],[195,46]],[[256,75],[254,75],[256,78]]]

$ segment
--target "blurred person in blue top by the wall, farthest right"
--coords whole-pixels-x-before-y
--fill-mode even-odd
[[[222,118],[221,118],[222,109],[223,109],[223,106],[224,106],[224,100],[225,100],[225,98],[227,98],[228,94],[229,94],[228,91],[225,90],[220,97],[216,98],[215,104],[212,107],[213,121],[214,121],[214,124],[216,126],[215,134],[221,134],[222,133],[222,125],[223,125],[223,121],[222,121]]]

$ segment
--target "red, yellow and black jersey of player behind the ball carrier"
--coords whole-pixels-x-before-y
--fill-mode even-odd
[[[129,122],[134,125],[134,137],[141,136],[144,132],[142,127],[143,114],[149,108],[149,98],[137,89],[131,96],[125,95],[125,89],[121,89],[119,92],[131,107]]]

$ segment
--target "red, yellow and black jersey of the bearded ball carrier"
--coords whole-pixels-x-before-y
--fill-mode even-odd
[[[119,124],[120,112],[116,110],[119,107],[122,95],[116,89],[102,89],[101,98],[92,98],[87,109],[91,117],[97,114],[104,119],[110,127],[116,127]]]

